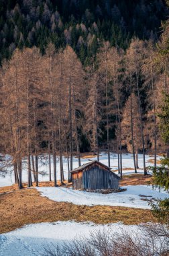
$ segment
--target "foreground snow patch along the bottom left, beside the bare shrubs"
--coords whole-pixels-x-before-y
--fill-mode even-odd
[[[0,234],[0,256],[40,256],[44,247],[71,241],[80,236],[89,237],[96,230],[112,232],[137,232],[137,226],[123,224],[95,225],[84,222],[54,222],[24,226],[18,230]]]

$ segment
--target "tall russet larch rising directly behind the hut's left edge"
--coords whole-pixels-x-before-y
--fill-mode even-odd
[[[83,93],[83,69],[82,64],[70,46],[64,50],[64,80],[65,97],[68,99],[68,142],[70,145],[70,170],[72,170],[72,156],[74,150],[74,139],[76,151],[78,154],[78,165],[80,166],[80,146],[78,135],[77,113],[82,111],[82,93]]]

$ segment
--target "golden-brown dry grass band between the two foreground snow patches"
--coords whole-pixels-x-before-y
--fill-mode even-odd
[[[150,210],[55,202],[42,197],[36,189],[22,189],[0,195],[0,233],[21,228],[25,224],[59,220],[91,221],[96,224],[156,221]]]

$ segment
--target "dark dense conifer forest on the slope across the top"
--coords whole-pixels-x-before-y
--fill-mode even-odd
[[[167,16],[162,0],[1,0],[0,61],[16,48],[37,46],[44,54],[52,42],[57,50],[69,44],[88,65],[103,40],[122,49],[133,36],[156,41]]]

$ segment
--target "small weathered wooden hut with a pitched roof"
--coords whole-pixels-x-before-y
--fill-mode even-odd
[[[73,189],[119,189],[117,174],[97,160],[83,164],[71,171]]]

